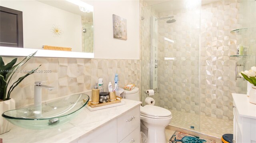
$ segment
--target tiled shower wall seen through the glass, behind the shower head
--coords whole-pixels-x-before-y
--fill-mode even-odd
[[[198,4],[199,5],[199,4]],[[199,115],[200,6],[162,12],[159,20],[160,106]],[[166,41],[164,38],[173,40]],[[174,60],[164,60],[165,57]],[[198,116],[199,119],[199,116]]]

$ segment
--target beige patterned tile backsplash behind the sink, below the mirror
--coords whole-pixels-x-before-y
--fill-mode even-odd
[[[13,58],[3,59],[8,63]],[[18,58],[18,61],[22,59]],[[107,91],[108,82],[114,82],[115,73],[118,73],[120,88],[129,83],[134,83],[138,88],[141,85],[140,60],[32,58],[21,69],[30,71],[40,64],[39,70],[51,70],[50,73],[34,73],[25,78],[11,95],[16,100],[16,107],[34,103],[35,81],[47,80],[43,84],[56,87],[52,91],[42,90],[43,101],[91,90],[98,78],[103,78],[104,91]],[[17,80],[24,74],[15,73],[13,78]]]

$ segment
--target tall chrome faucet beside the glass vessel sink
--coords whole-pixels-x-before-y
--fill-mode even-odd
[[[53,86],[42,85],[41,83],[42,81],[37,81],[34,86],[34,115],[36,118],[41,118],[42,116],[42,88],[48,90],[53,90],[55,88]]]

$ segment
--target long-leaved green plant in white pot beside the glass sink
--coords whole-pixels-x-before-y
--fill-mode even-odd
[[[10,123],[2,117],[2,113],[15,109],[15,100],[10,98],[12,91],[16,86],[18,86],[18,84],[20,84],[20,82],[22,82],[22,80],[24,80],[24,78],[30,74],[33,74],[41,65],[36,69],[28,72],[26,75],[18,78],[18,80],[15,82],[12,81],[11,84],[12,76],[18,72],[18,69],[24,65],[24,63],[34,57],[34,55],[36,55],[36,52],[28,55],[18,64],[16,64],[18,58],[14,58],[12,61],[10,61],[10,63],[7,63],[6,65],[0,56],[0,134],[6,133],[11,129]]]

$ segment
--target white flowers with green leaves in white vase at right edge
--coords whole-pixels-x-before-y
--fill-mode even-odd
[[[256,67],[251,67],[249,71],[241,71],[239,75],[253,85],[251,89],[247,89],[247,92],[249,92],[250,103],[256,104]],[[247,84],[247,86],[250,86],[250,84]]]

